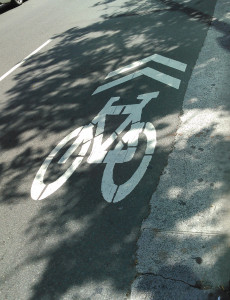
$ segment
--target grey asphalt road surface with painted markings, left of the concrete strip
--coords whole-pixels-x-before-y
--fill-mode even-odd
[[[1,299],[128,297],[215,2],[0,7]]]

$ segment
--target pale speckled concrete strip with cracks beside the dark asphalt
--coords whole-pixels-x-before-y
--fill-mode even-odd
[[[188,3],[189,5],[189,3]],[[131,299],[230,299],[230,0],[219,0],[143,222]],[[222,288],[223,287],[223,288]]]

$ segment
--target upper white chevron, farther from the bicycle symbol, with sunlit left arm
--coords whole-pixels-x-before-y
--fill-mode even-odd
[[[159,54],[153,54],[151,56],[148,56],[142,60],[139,60],[139,61],[135,61],[133,62],[132,64],[130,65],[127,65],[125,67],[122,67],[122,68],[119,68],[113,72],[110,72],[105,79],[107,78],[110,78],[112,76],[116,76],[118,74],[122,74],[124,72],[128,72],[130,70],[133,70],[137,67],[140,67],[144,64],[146,64],[147,62],[150,62],[150,61],[154,61],[154,62],[157,62],[159,64],[162,64],[162,65],[165,65],[165,66],[168,66],[170,68],[174,68],[176,70],[179,70],[179,71],[182,71],[184,72],[186,70],[186,67],[187,65],[180,62],[180,61],[177,61],[177,60],[174,60],[174,59],[171,59],[171,58],[168,58],[168,57],[165,57],[165,56],[162,56],[162,55],[159,55]]]

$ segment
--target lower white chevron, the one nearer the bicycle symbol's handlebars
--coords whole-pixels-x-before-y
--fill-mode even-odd
[[[101,93],[101,92],[103,92],[105,90],[108,90],[108,89],[110,89],[112,87],[115,87],[117,85],[123,84],[124,82],[127,82],[129,80],[132,80],[134,78],[137,78],[137,77],[140,77],[140,76],[143,76],[143,75],[147,76],[147,77],[149,77],[149,78],[151,78],[153,80],[156,80],[156,81],[159,81],[161,83],[164,83],[164,84],[166,84],[168,86],[171,86],[171,87],[173,87],[175,89],[179,89],[179,87],[180,87],[180,82],[181,82],[180,79],[177,79],[175,77],[169,76],[169,75],[164,74],[164,73],[162,73],[160,71],[157,71],[155,69],[147,67],[147,68],[144,68],[144,69],[142,69],[140,71],[136,71],[136,72],[134,72],[134,73],[132,73],[130,75],[126,75],[126,76],[124,76],[122,78],[116,79],[114,81],[111,81],[109,83],[106,83],[104,85],[99,86],[94,91],[93,95]]]

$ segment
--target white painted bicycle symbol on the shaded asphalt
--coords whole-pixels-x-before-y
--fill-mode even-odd
[[[79,127],[68,134],[47,156],[40,169],[38,170],[31,187],[31,197],[34,200],[42,200],[56,192],[79,167],[84,156],[92,144],[92,151],[87,159],[87,163],[106,164],[102,176],[101,192],[107,202],[119,202],[130,194],[136,185],[144,176],[147,167],[152,159],[156,146],[156,130],[150,122],[140,122],[143,108],[154,98],[157,98],[159,92],[139,95],[137,99],[141,100],[139,104],[131,105],[113,105],[120,97],[112,97],[99,114],[89,125]],[[109,138],[103,142],[103,132],[107,115],[128,115],[125,121],[113,132]],[[127,126],[131,128],[122,136],[113,150],[108,150],[118,136],[124,132]],[[94,134],[94,129],[96,129]],[[116,164],[129,162],[134,157],[138,146],[140,134],[146,137],[146,149],[144,156],[132,177],[121,185],[116,185],[113,180],[113,170]],[[80,148],[78,156],[75,158],[67,171],[57,180],[50,184],[44,184],[45,173],[59,151],[72,139],[72,145],[58,161],[59,164],[65,164],[74,151]],[[124,149],[125,148],[125,149]]]

